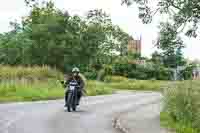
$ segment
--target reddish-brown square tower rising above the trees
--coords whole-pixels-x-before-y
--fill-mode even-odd
[[[134,40],[132,37],[128,41],[128,52],[141,55],[142,51],[142,39]]]

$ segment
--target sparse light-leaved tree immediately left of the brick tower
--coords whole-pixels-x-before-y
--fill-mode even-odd
[[[129,35],[119,26],[113,25],[108,14],[101,9],[95,9],[88,12],[87,19],[88,24],[93,26],[99,39],[93,37],[91,40],[97,40],[96,44],[100,43],[99,47],[96,47],[99,49],[96,64],[111,63],[115,53],[119,53],[121,56],[126,54]],[[95,34],[92,33],[93,36]]]

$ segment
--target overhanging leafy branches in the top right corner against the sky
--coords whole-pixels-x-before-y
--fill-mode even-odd
[[[178,32],[185,28],[187,36],[197,37],[200,22],[199,0],[158,0],[153,8],[150,0],[122,0],[122,4],[130,6],[133,3],[139,5],[139,18],[143,23],[150,23],[154,15],[168,15],[171,23]]]

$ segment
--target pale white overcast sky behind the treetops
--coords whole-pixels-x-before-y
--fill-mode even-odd
[[[138,19],[136,6],[127,8],[121,6],[121,0],[53,0],[56,7],[69,11],[70,14],[84,15],[90,9],[101,8],[111,15],[114,24],[119,25],[135,39],[142,36],[142,54],[150,56],[155,50],[153,41],[157,37],[159,20],[155,18],[152,24],[143,25]],[[20,21],[20,18],[28,14],[24,0],[2,0],[0,3],[0,33],[10,30],[9,22]],[[200,59],[200,39],[187,39],[187,48],[184,55],[190,59]]]

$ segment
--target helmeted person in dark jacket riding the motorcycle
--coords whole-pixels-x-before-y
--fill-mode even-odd
[[[77,88],[77,105],[79,105],[80,99],[83,95],[84,91],[84,81],[81,78],[80,70],[75,67],[72,69],[72,74],[71,76],[65,81],[65,85],[68,86],[71,81],[76,81],[78,83],[78,88]],[[65,87],[66,87],[65,86]],[[67,106],[67,97],[68,97],[68,90],[65,92],[65,107]]]

